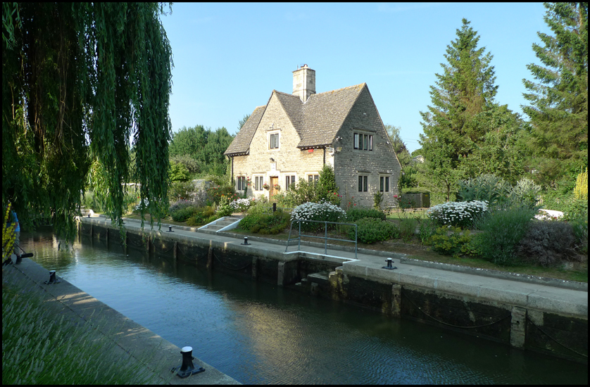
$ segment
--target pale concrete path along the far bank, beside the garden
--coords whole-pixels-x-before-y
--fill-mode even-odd
[[[103,226],[111,224],[110,220],[100,217],[84,218],[83,221]],[[137,220],[125,220],[127,229],[139,230],[139,226],[140,222]],[[144,229],[149,230],[149,223],[144,224]],[[172,230],[174,233],[166,232],[168,224],[162,224],[158,235],[165,238],[174,234],[175,239],[186,241],[204,239],[205,241],[201,242],[209,241],[207,244],[214,241],[217,245],[222,243],[225,248],[232,248],[241,253],[250,251],[258,256],[272,255],[275,258],[279,257],[279,259],[282,256],[282,260],[295,259],[297,256],[303,256],[306,259],[331,260],[341,262],[345,275],[387,283],[420,286],[460,296],[482,298],[545,312],[588,318],[588,284],[575,281],[545,279],[434,262],[426,263],[409,260],[405,255],[396,254],[393,251],[359,249],[355,259],[354,248],[329,245],[326,254],[323,243],[303,243],[305,246],[302,246],[301,250],[305,253],[297,253],[295,242],[295,245],[289,246],[287,253],[284,253],[286,245],[284,241],[249,236],[251,246],[243,246],[241,245],[244,242],[243,236],[225,231],[205,233],[197,231],[196,228],[175,225],[172,225]],[[397,269],[382,268],[386,265],[386,257],[394,259],[394,266]]]

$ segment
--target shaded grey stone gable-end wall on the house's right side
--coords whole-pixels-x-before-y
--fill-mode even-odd
[[[353,148],[353,133],[372,134],[373,150]],[[363,207],[372,207],[374,194],[379,191],[379,177],[389,176],[389,192],[384,192],[383,206],[395,206],[394,195],[398,195],[398,179],[401,166],[385,132],[375,103],[365,87],[358,96],[348,118],[344,121],[334,141],[334,148],[341,151],[334,155],[334,175],[339,193],[343,196],[343,207],[349,202]],[[368,175],[368,191],[358,191],[358,175]],[[354,199],[352,199],[354,197]]]

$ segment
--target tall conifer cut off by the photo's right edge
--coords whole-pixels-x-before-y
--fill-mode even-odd
[[[532,167],[539,182],[555,186],[575,180],[588,167],[588,3],[546,3],[538,32],[544,46],[532,48],[542,65],[527,65],[534,80],[522,80],[532,123]]]

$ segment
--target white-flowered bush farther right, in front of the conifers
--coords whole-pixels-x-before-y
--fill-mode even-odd
[[[441,226],[472,227],[475,217],[486,212],[488,205],[484,201],[456,202],[449,201],[434,205],[427,210],[427,216]]]

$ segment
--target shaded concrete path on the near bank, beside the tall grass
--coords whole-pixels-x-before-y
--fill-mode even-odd
[[[59,278],[59,273],[57,277]],[[51,304],[44,303],[44,307],[54,312],[56,319],[63,316],[60,314],[63,311],[66,320],[73,318],[79,321],[79,324],[92,324],[97,335],[103,336],[105,340],[115,341],[116,345],[112,349],[113,358],[118,359],[128,353],[135,362],[144,363],[143,360],[148,360],[147,364],[144,363],[144,372],[158,375],[162,382],[170,379],[169,384],[240,384],[197,359],[196,350],[193,350],[194,366],[203,367],[205,372],[184,379],[178,376],[170,378],[170,368],[182,364],[180,348],[84,293],[68,281],[62,279],[59,284],[44,284],[44,281],[49,280],[49,270],[28,258],[24,258],[20,265],[4,267],[2,279],[14,284],[13,286],[41,288]],[[113,327],[116,327],[114,332]]]

